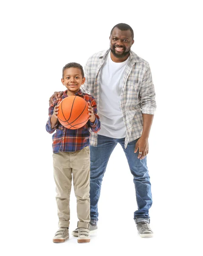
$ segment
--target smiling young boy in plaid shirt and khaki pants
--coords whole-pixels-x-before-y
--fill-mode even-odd
[[[56,133],[53,139],[54,180],[56,183],[56,204],[58,207],[59,230],[53,238],[54,243],[64,242],[69,238],[68,227],[70,221],[70,189],[73,175],[73,186],[77,198],[78,242],[90,242],[90,129],[100,130],[96,101],[93,96],[82,93],[80,86],[85,83],[83,68],[72,62],[63,67],[62,84],[67,90],[62,99],[76,95],[88,102],[90,118],[81,128],[72,130],[62,126],[58,119],[58,102],[49,107],[49,119],[46,124],[48,133]]]

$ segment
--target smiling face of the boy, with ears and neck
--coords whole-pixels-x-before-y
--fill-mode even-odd
[[[75,95],[79,90],[81,84],[85,83],[85,77],[82,77],[81,70],[76,67],[69,67],[64,70],[62,84],[68,89],[67,94]]]

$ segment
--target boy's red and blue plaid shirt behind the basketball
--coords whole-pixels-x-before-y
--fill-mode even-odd
[[[52,134],[54,131],[54,135],[52,136],[53,140],[53,152],[58,153],[59,151],[65,151],[65,152],[73,152],[73,151],[79,151],[82,148],[85,148],[90,145],[90,129],[93,133],[96,133],[100,130],[100,121],[99,116],[97,115],[97,106],[96,101],[93,96],[82,93],[81,90],[79,90],[78,93],[75,95],[82,97],[87,102],[89,101],[91,103],[91,106],[93,107],[94,114],[96,116],[95,122],[92,123],[88,121],[83,127],[75,130],[67,129],[64,126],[60,124],[60,122],[57,120],[57,123],[53,129],[51,129],[51,116],[54,113],[54,107],[57,105],[58,101],[54,99],[54,105],[51,105],[49,107],[49,118],[46,123],[46,130],[48,133]],[[65,97],[68,97],[67,90],[63,93],[61,99],[64,99]]]

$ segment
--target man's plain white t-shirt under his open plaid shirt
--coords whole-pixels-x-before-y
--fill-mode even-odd
[[[121,89],[124,72],[127,67],[124,62],[113,62],[110,52],[101,68],[99,85],[99,119],[101,122],[100,135],[121,139],[126,136],[126,128],[121,113]]]

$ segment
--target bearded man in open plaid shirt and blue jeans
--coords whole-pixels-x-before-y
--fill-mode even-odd
[[[101,130],[90,137],[90,230],[97,229],[101,181],[120,143],[134,177],[138,205],[134,220],[140,236],[149,237],[153,236],[149,227],[152,195],[146,156],[156,103],[149,64],[130,50],[133,38],[129,25],[117,24],[110,33],[110,49],[92,55],[85,65],[82,89],[95,97],[101,121]]]

